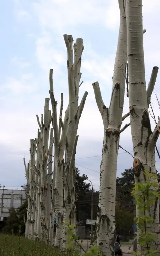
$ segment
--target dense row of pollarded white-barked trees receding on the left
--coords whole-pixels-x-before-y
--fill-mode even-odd
[[[53,244],[55,213],[56,236],[54,244],[61,248],[66,247],[67,243],[66,225],[63,223],[70,219],[71,223],[76,224],[75,154],[78,141],[77,130],[88,94],[87,92],[84,93],[80,105],[78,105],[83,40],[77,39],[73,46],[72,35],[64,35],[64,41],[68,54],[69,89],[69,101],[64,121],[62,121],[63,94],[61,94],[59,122],[57,120],[57,101],[54,97],[53,70],[51,69],[49,73],[50,98],[45,98],[44,115],[41,116],[41,122],[37,115],[38,135],[37,138],[31,139],[28,166],[26,166],[24,159],[27,185],[29,186],[25,235],[30,239],[41,239]],[[50,100],[52,114],[49,110]],[[50,128],[51,124],[53,128]]]

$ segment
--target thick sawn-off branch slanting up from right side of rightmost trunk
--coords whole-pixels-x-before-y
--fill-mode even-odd
[[[148,106],[151,103],[151,95],[152,95],[152,92],[154,90],[157,74],[158,74],[158,67],[153,67],[152,73],[151,73],[151,78],[150,78],[150,81],[149,81],[149,84],[148,84],[148,88],[147,88]]]

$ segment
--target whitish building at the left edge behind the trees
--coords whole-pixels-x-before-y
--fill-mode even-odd
[[[26,200],[26,190],[0,189],[0,217],[9,216],[9,208],[17,209]]]

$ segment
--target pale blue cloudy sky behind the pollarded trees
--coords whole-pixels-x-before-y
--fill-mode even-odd
[[[153,66],[160,65],[160,1],[143,1],[146,84]],[[103,101],[109,106],[119,31],[118,0],[9,0],[0,1],[0,183],[19,188],[26,183],[23,158],[29,160],[30,139],[37,137],[36,114],[49,97],[49,69],[53,68],[55,98],[68,104],[67,51],[63,34],[83,38],[82,80],[79,99],[88,91],[80,119],[76,165],[88,175],[96,190],[103,143],[103,123],[92,83],[99,81]],[[160,74],[155,93],[160,99]],[[153,94],[155,116],[160,110]],[[129,102],[125,97],[124,114]],[[129,117],[123,122],[129,122]],[[155,124],[151,119],[152,128]],[[133,154],[131,131],[121,134],[120,145]],[[160,140],[157,141],[160,148]],[[119,149],[117,176],[133,165],[132,156]],[[156,154],[156,168],[160,160]]]

